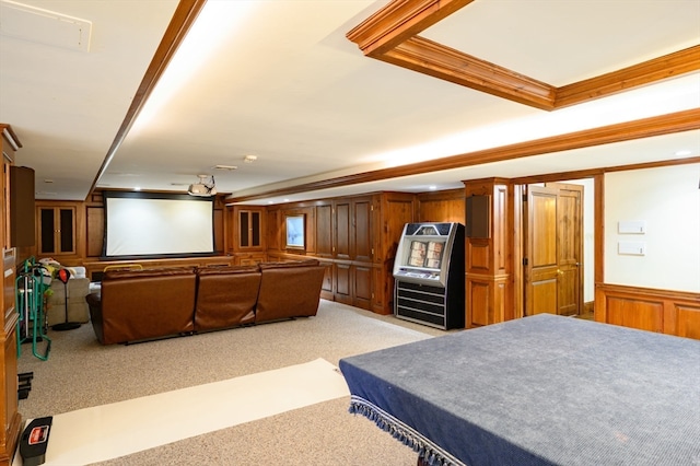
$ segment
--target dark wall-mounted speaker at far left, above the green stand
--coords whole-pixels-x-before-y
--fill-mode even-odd
[[[10,245],[30,247],[35,244],[34,170],[10,166]]]

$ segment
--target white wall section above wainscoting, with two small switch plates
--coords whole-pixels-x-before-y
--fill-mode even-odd
[[[605,175],[606,283],[700,292],[699,184],[700,164]],[[645,232],[620,233],[628,221]],[[634,254],[620,254],[620,242]]]

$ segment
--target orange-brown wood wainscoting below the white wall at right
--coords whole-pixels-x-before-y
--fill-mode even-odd
[[[595,321],[700,339],[700,293],[596,284]]]

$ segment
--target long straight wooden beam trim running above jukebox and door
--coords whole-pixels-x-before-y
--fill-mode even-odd
[[[670,135],[700,129],[700,108],[660,115],[650,118],[609,125],[600,128],[585,129],[567,135],[517,142],[499,148],[485,149],[459,155],[412,163],[392,168],[355,173],[311,183],[303,183],[283,188],[275,188],[259,194],[232,197],[226,203],[245,202],[267,197],[283,196],[318,189],[329,189],[360,183],[380,182],[400,176],[420,175],[443,170],[462,168],[490,162],[521,159],[571,149],[590,148],[612,142],[631,141],[653,136]]]

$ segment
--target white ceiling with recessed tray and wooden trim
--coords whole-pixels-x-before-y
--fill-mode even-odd
[[[38,42],[31,24],[27,38],[9,35],[10,16],[0,16],[0,121],[23,144],[18,163],[36,171],[38,199],[82,200],[177,2],[22,3],[92,22],[85,53]],[[200,18],[225,19],[224,33],[209,26],[198,36],[192,27],[182,48],[194,47],[197,60],[179,69],[173,61],[164,77],[185,82],[161,106],[147,105],[97,187],[184,193],[198,174],[212,174],[219,191],[252,195],[700,107],[698,72],[548,113],[366,58],[346,33],[385,3],[209,0]],[[213,10],[232,5],[240,10]],[[700,0],[476,0],[421,35],[563,85],[700,44]],[[700,155],[698,131],[285,199],[454,188],[676,159],[684,149]],[[248,154],[257,161],[244,163]]]

